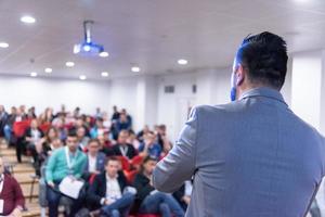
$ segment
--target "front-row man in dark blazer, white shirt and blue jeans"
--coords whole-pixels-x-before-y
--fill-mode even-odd
[[[105,171],[98,175],[88,189],[87,202],[91,206],[91,216],[127,217],[134,201],[135,192],[127,190],[127,180],[118,173],[119,159],[108,157]]]

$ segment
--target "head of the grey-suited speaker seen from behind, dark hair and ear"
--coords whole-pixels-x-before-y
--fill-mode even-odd
[[[268,31],[246,37],[233,66],[232,86],[236,89],[236,97],[257,87],[281,90],[287,61],[287,44],[282,37]]]

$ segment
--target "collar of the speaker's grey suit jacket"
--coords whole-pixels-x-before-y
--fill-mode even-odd
[[[276,100],[276,101],[287,105],[287,103],[285,102],[285,100],[280,91],[274,90],[272,88],[266,88],[266,87],[247,90],[246,92],[244,92],[240,95],[239,100],[244,100],[246,98],[255,98],[255,97],[262,97],[262,98],[268,98],[271,100]]]

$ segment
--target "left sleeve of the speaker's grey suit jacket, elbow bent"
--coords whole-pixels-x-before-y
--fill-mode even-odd
[[[153,184],[157,190],[174,192],[194,174],[196,169],[197,118],[197,108],[193,108],[176,145],[157,164],[153,173]]]

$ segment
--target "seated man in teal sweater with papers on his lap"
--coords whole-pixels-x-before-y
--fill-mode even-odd
[[[66,146],[55,150],[49,158],[46,168],[47,199],[49,202],[49,216],[57,216],[60,199],[63,194],[58,191],[60,182],[67,176],[80,178],[87,165],[86,154],[78,150],[76,131],[69,130]],[[74,216],[80,204],[75,201],[70,216]]]

